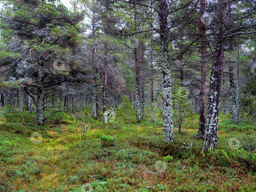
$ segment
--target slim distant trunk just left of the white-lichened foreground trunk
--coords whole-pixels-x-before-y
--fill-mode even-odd
[[[150,13],[152,19],[152,8]],[[153,29],[151,25],[151,30]],[[150,33],[150,107],[151,107],[151,122],[154,122],[154,66],[153,66],[153,35]]]

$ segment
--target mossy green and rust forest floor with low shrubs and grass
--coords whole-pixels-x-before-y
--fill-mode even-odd
[[[163,141],[161,117],[151,123],[148,114],[116,129],[94,126],[78,141],[80,129],[67,115],[60,125],[0,124],[0,191],[256,191],[256,153],[246,138],[248,132],[255,143],[256,127],[236,126],[230,115],[220,114],[217,149],[207,154],[192,137],[195,113],[180,134],[175,129],[171,144]],[[31,142],[34,132],[42,135],[40,144]],[[116,146],[104,146],[102,135],[115,135]],[[231,138],[240,143],[230,147]]]

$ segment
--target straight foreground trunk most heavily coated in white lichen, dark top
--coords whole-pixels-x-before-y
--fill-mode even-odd
[[[162,68],[162,102],[164,142],[174,141],[172,81],[168,54],[168,5],[166,0],[159,0],[160,18],[160,61]]]

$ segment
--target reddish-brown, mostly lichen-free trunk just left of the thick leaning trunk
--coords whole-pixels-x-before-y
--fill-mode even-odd
[[[200,12],[198,20],[198,29],[200,34],[200,54],[201,54],[201,73],[200,73],[200,111],[199,111],[199,137],[204,136],[205,129],[205,112],[206,112],[206,97],[205,97],[205,87],[206,87],[206,35],[205,26],[201,22],[201,15],[204,14],[205,0],[200,0]]]

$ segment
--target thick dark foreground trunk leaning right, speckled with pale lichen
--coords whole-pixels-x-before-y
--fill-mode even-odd
[[[214,61],[211,69],[210,90],[208,109],[206,117],[206,127],[204,131],[203,151],[213,150],[217,146],[218,118],[220,104],[220,88],[222,76],[222,64],[224,56],[224,35],[225,27],[223,23],[227,15],[227,0],[218,0],[216,11],[215,37],[214,37]]]

